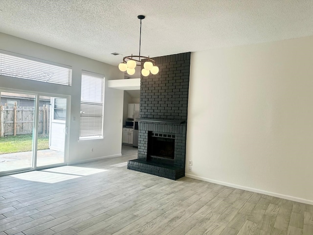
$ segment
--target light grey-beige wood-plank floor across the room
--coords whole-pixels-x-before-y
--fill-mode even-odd
[[[313,235],[313,206],[127,170],[136,149],[0,177],[0,235]]]

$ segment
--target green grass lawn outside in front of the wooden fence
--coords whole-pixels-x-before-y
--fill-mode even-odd
[[[6,136],[0,138],[0,154],[32,151],[32,135]],[[49,148],[49,137],[38,136],[38,150]]]

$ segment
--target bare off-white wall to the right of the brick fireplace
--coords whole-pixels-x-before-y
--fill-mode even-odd
[[[186,176],[313,204],[312,42],[192,53]]]

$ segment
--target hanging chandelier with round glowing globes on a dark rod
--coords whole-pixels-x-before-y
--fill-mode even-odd
[[[118,69],[122,72],[127,71],[129,75],[133,75],[135,73],[135,67],[138,65],[141,67],[143,64],[143,69],[141,70],[141,74],[143,76],[148,76],[150,73],[156,74],[158,73],[158,67],[156,66],[156,62],[146,56],[140,56],[140,46],[141,46],[141,20],[145,19],[145,16],[139,15],[137,18],[140,20],[140,38],[139,38],[139,55],[131,55],[125,56],[123,58],[123,62],[118,65]],[[142,62],[141,59],[145,59],[145,62]],[[139,64],[138,64],[139,63]]]

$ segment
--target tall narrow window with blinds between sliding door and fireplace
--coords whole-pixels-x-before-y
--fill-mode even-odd
[[[82,72],[79,139],[103,137],[104,76]]]

